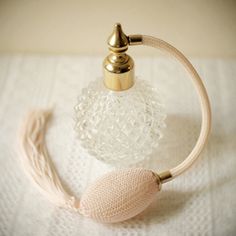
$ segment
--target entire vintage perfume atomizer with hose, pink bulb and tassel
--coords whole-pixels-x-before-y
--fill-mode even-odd
[[[108,39],[110,55],[104,61],[104,79],[92,82],[76,106],[76,131],[91,155],[115,165],[141,161],[156,147],[165,115],[158,93],[134,76],[128,45],[163,49],[189,72],[201,105],[201,131],[192,151],[171,169],[113,170],[88,186],[81,197],[64,187],[47,151],[45,135],[52,110],[30,112],[20,135],[21,161],[33,183],[55,205],[102,223],[128,220],[144,211],[163,184],[187,171],[204,149],[211,130],[207,91],[190,61],[169,43],[152,36],[126,36],[119,24]],[[103,81],[103,82],[102,82]],[[195,176],[196,179],[198,176]]]

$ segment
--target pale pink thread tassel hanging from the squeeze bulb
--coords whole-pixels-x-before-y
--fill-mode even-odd
[[[51,115],[51,110],[28,114],[20,135],[21,162],[26,174],[52,203],[78,211],[79,200],[62,185],[45,145],[45,131]]]

